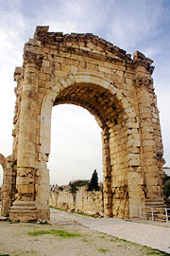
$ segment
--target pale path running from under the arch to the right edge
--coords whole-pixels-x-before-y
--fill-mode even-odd
[[[68,218],[70,217],[90,229],[170,253],[170,227],[158,227],[150,224],[125,221],[118,218],[94,219],[78,216],[77,214],[69,215],[67,212],[64,213]],[[55,222],[55,211],[53,210],[51,211],[51,218],[52,221]]]

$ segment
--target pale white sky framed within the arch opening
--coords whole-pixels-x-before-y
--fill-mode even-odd
[[[103,180],[101,129],[89,111],[74,104],[52,109],[50,184],[90,179],[96,169]]]

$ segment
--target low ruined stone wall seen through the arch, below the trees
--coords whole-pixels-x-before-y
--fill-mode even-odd
[[[103,192],[87,192],[81,187],[75,194],[69,191],[50,192],[50,205],[63,210],[99,213],[103,216]]]

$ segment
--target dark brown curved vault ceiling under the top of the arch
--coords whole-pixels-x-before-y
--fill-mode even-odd
[[[89,110],[94,116],[98,125],[103,129],[109,129],[114,120],[121,118],[123,107],[106,88],[93,83],[76,83],[66,87],[56,97],[53,105],[60,103],[72,103]]]

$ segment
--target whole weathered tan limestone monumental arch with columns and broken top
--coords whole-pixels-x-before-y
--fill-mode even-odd
[[[133,206],[162,204],[162,144],[152,61],[93,34],[37,27],[16,67],[12,221],[49,219],[51,111],[62,103],[89,110],[102,128],[104,214],[128,218]],[[67,157],[67,155],[65,155]]]

